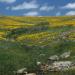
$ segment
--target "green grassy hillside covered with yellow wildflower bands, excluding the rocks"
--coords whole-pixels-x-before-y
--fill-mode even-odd
[[[71,51],[67,60],[74,61],[75,16],[0,16],[0,75],[14,75],[23,67],[35,71],[37,61],[66,51]]]

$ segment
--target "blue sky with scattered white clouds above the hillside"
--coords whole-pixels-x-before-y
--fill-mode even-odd
[[[75,15],[75,0],[0,0],[0,15]]]

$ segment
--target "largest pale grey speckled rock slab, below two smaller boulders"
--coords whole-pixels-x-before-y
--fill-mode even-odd
[[[64,71],[69,70],[72,67],[71,61],[55,61],[48,68],[50,71]]]

